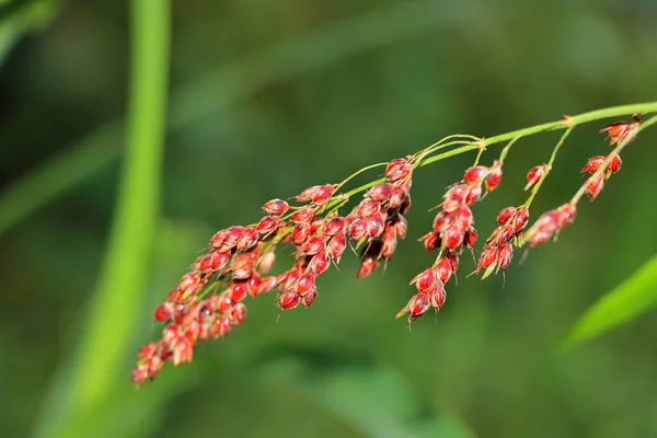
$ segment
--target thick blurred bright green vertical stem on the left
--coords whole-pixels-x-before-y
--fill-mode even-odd
[[[78,356],[71,412],[94,406],[125,380],[122,364],[130,347],[127,339],[134,334],[159,215],[169,22],[169,1],[132,0],[127,154],[110,244]]]

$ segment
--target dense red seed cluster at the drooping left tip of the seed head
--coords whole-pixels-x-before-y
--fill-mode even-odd
[[[166,300],[154,311],[165,326],[159,342],[139,351],[132,380],[139,385],[152,380],[164,362],[174,366],[192,360],[198,341],[226,337],[246,316],[242,300],[268,292],[279,284],[277,276],[264,276],[273,266],[273,251],[264,251],[277,232],[287,227],[281,215],[288,211],[285,200],[273,199],[263,207],[267,216],[256,224],[230,227],[210,240],[207,254],[198,257],[192,272],[183,276]],[[209,293],[211,280],[222,285]],[[220,281],[220,283],[218,283]]]

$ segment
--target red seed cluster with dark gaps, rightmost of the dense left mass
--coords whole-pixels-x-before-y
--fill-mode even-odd
[[[406,238],[403,215],[411,208],[412,175],[407,159],[392,160],[385,168],[387,181],[367,191],[347,216],[349,240],[356,246],[366,244],[357,278],[373,273],[381,260],[388,263],[396,250],[397,238]]]

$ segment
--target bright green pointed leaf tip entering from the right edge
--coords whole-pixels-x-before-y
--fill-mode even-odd
[[[657,255],[579,318],[563,342],[570,347],[624,324],[657,306]]]

